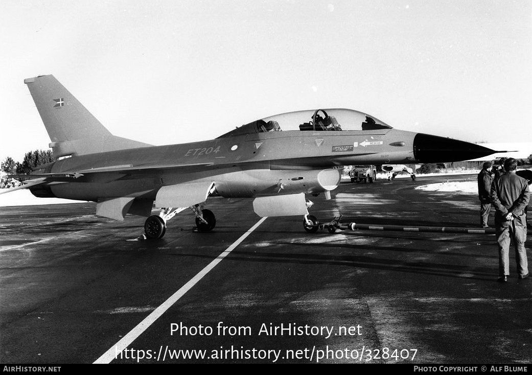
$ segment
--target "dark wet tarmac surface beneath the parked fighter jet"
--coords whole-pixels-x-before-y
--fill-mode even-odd
[[[478,227],[476,195],[414,190],[464,178],[346,183],[310,212]],[[309,234],[299,216],[251,231],[251,199],[207,203],[212,232],[185,211],[151,241],[131,241],[144,218],[97,218],[93,203],[0,207],[0,362],[532,362],[532,281],[511,249],[496,282],[494,235]]]

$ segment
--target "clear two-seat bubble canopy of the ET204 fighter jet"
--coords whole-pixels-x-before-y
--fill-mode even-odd
[[[281,113],[245,124],[219,138],[270,131],[346,131],[392,129],[367,113],[349,109],[318,109]]]

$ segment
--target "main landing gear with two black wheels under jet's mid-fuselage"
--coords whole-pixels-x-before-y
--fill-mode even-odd
[[[196,227],[198,232],[209,232],[216,225],[216,218],[211,210],[203,209],[203,205],[194,205],[189,207],[196,215]],[[187,207],[162,208],[159,215],[151,215],[144,223],[144,233],[148,239],[162,238],[166,233],[167,221],[179,212],[186,210]],[[173,210],[173,211],[172,211]]]

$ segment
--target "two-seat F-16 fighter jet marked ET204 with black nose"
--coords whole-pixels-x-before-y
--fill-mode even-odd
[[[305,194],[340,182],[339,166],[451,162],[495,153],[460,140],[396,130],[347,109],[284,113],[250,122],[218,138],[152,146],[112,135],[53,76],[24,80],[57,160],[41,165],[25,185],[37,197],[96,202],[96,215],[146,216],[146,237],[161,238],[167,221],[188,207],[200,231],[214,228],[204,209],[210,196],[254,198],[260,216],[303,215],[317,222]],[[17,188],[15,188],[17,189]],[[152,207],[160,207],[152,215]]]

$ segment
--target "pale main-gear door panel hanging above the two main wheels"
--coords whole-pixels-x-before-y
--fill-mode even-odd
[[[163,186],[157,191],[156,207],[190,207],[205,202],[214,182]]]

